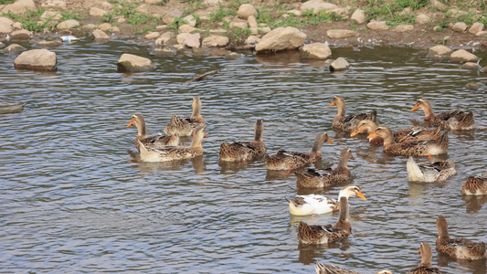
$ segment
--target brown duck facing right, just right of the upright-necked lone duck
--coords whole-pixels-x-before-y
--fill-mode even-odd
[[[322,146],[324,142],[333,143],[326,132],[320,132],[314,140],[310,153],[296,153],[279,151],[275,155],[266,155],[266,167],[269,170],[293,170],[308,163],[322,159]]]

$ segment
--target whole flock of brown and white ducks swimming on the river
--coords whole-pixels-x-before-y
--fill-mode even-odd
[[[425,113],[424,120],[435,129],[413,127],[392,132],[386,126],[379,126],[377,113],[345,114],[344,97],[334,96],[330,107],[336,106],[338,114],[333,119],[333,129],[341,132],[351,132],[350,136],[366,133],[371,145],[383,146],[385,153],[410,156],[407,163],[408,180],[419,182],[434,182],[445,180],[456,174],[455,164],[449,159],[442,162],[416,163],[412,156],[431,156],[448,152],[448,131],[471,130],[476,127],[473,113],[460,110],[446,111],[435,115],[426,99],[416,102],[411,111],[418,109]],[[181,118],[173,115],[171,121],[164,128],[165,134],[149,136],[147,134],[143,115],[133,114],[127,127],[135,125],[137,136],[134,146],[140,152],[142,162],[165,162],[181,159],[195,158],[203,154],[202,141],[207,137],[205,133],[206,121],[201,116],[201,100],[193,99],[193,113],[190,117]],[[291,152],[281,150],[276,154],[267,154],[263,141],[264,125],[262,120],[255,123],[254,140],[251,142],[223,142],[220,145],[218,157],[220,161],[241,162],[265,158],[268,170],[282,170],[296,174],[296,186],[300,188],[326,188],[349,179],[351,172],[347,167],[349,159],[354,156],[349,148],[341,154],[338,166],[334,169],[318,171],[308,169],[298,171],[308,164],[322,159],[321,149],[324,142],[333,143],[326,132],[320,132],[309,153]],[[443,133],[441,134],[441,131]],[[180,137],[193,136],[188,147],[181,146]],[[487,195],[487,174],[471,176],[461,185],[461,192],[465,195]],[[360,187],[345,185],[338,195],[338,200],[323,195],[298,195],[294,199],[287,199],[291,215],[307,216],[319,215],[329,212],[339,212],[338,221],[332,225],[317,226],[300,222],[298,225],[298,240],[302,244],[328,244],[343,237],[348,237],[352,227],[348,221],[348,198],[358,196],[366,200]],[[465,238],[452,239],[448,233],[447,221],[444,216],[438,216],[437,227],[439,237],[436,250],[447,254],[454,259],[481,259],[486,258],[485,243],[474,243]],[[429,243],[422,242],[419,252],[421,263],[408,273],[440,273],[439,269],[431,265],[432,251]],[[318,262],[316,272],[320,273],[357,273],[337,266],[325,265]],[[377,273],[391,273],[380,270]]]

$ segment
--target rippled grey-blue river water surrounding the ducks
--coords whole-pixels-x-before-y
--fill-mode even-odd
[[[434,248],[438,215],[447,217],[452,237],[487,240],[487,197],[460,192],[469,175],[487,171],[487,131],[451,133],[448,156],[437,158],[453,159],[458,174],[413,184],[407,157],[384,155],[365,136],[333,132],[336,108],[328,107],[333,95],[343,95],[347,113],[376,110],[396,130],[422,120],[422,111],[409,110],[425,97],[437,112],[460,107],[487,126],[485,95],[462,88],[485,80],[478,72],[433,63],[405,47],[333,48],[333,58],[352,64],[333,74],[296,54],[164,57],[122,41],[53,50],[58,71],[49,73],[16,71],[15,56],[0,55],[0,102],[27,103],[22,113],[2,115],[2,272],[313,273],[318,260],[403,273],[420,262],[421,241]],[[151,58],[157,67],[118,73],[122,53]],[[218,68],[211,79],[181,84]],[[136,130],[126,128],[131,115],[142,113],[149,133],[162,132],[173,113],[191,113],[193,96],[201,97],[208,124],[204,156],[139,163]],[[329,247],[298,245],[300,220],[333,224],[337,216],[291,217],[284,198],[297,194],[294,174],[268,173],[261,161],[218,163],[219,144],[250,141],[257,119],[269,153],[307,152],[323,131],[334,141],[323,145],[324,167],[352,148],[352,183],[367,201],[350,202],[350,237]],[[340,187],[314,193],[335,197]],[[443,273],[486,271],[484,260],[451,261],[436,251],[433,265]]]

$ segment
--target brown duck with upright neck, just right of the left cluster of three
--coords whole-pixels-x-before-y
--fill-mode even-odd
[[[237,162],[253,160],[266,153],[266,146],[262,139],[264,123],[258,120],[254,127],[254,140],[252,142],[222,142],[218,157],[221,161]]]

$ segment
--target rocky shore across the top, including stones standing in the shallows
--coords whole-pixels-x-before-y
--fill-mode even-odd
[[[300,49],[302,58],[326,60],[331,58],[333,46],[398,45],[429,48],[429,58],[485,71],[471,52],[487,47],[485,7],[475,1],[449,1],[449,5],[440,0],[332,2],[2,0],[0,47],[19,54],[26,48],[16,41],[58,47],[62,39],[77,37],[99,42],[136,37],[153,45],[158,54],[217,47],[231,57],[239,49],[258,53]],[[37,50],[37,54],[46,56],[46,51]],[[130,64],[130,58],[145,65]],[[28,68],[25,57],[23,60],[16,62],[16,68]],[[46,69],[53,68],[52,60]],[[332,70],[348,68],[344,58],[333,61]],[[119,61],[123,71],[152,66],[130,55]]]

